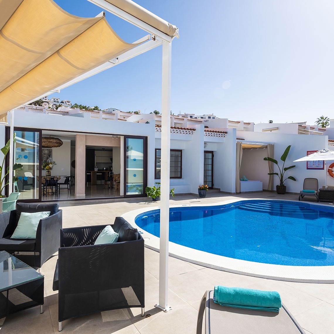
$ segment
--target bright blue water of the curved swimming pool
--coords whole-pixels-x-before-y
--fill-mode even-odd
[[[159,210],[136,217],[159,236]],[[288,266],[334,265],[334,208],[249,200],[170,208],[169,241],[229,258]]]

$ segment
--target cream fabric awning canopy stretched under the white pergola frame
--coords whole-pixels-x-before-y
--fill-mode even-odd
[[[104,15],[71,15],[52,0],[0,0],[0,118],[136,47]]]

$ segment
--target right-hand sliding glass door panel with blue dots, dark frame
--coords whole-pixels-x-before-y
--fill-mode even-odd
[[[147,184],[147,138],[124,136],[125,196],[145,194]]]

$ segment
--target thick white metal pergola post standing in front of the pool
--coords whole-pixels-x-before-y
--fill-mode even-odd
[[[170,42],[162,43],[162,117],[161,117],[161,202],[160,202],[160,262],[159,304],[155,307],[167,312],[168,306],[168,241],[169,241],[169,161],[170,161]]]

